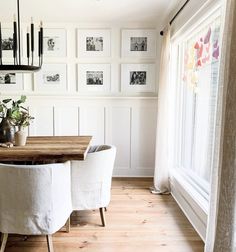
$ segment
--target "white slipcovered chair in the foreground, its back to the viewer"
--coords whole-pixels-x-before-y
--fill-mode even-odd
[[[65,225],[72,212],[70,162],[43,165],[0,164],[0,232],[6,246],[8,234],[46,235]]]

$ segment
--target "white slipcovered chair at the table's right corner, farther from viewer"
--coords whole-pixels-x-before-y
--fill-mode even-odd
[[[100,210],[105,226],[104,208],[110,202],[111,179],[116,156],[115,146],[90,147],[84,161],[71,161],[73,210]]]

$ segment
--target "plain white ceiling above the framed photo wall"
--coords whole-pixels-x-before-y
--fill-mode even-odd
[[[0,21],[12,20],[16,0],[0,0]],[[45,22],[158,22],[181,0],[20,0],[21,18]]]

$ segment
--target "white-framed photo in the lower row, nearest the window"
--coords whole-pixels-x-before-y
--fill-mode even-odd
[[[122,64],[122,92],[155,92],[155,64]]]

